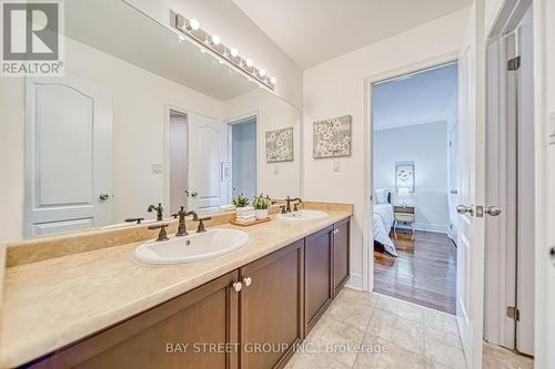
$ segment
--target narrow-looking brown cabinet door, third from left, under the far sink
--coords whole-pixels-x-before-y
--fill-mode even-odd
[[[305,324],[306,334],[332,301],[332,227],[305,238]]]

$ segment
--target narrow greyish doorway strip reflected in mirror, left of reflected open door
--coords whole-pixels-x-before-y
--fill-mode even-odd
[[[170,214],[188,208],[189,134],[186,114],[170,112]]]

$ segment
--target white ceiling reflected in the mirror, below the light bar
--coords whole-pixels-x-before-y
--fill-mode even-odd
[[[123,1],[65,1],[65,35],[225,101],[258,85]]]

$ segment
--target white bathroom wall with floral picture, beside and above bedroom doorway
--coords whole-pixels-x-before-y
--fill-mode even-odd
[[[461,10],[304,71],[303,196],[314,201],[354,204],[351,229],[350,285],[362,286],[364,206],[364,78],[458,51],[468,18]],[[312,122],[351,114],[352,155],[335,160],[312,157]]]

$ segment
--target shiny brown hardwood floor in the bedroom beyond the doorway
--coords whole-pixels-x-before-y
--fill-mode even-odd
[[[397,257],[374,247],[374,291],[448,314],[456,312],[456,247],[440,233],[391,233]]]

